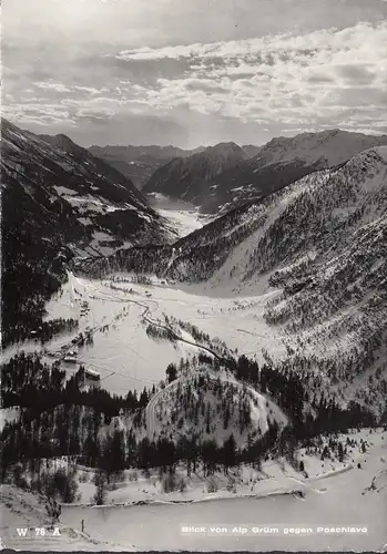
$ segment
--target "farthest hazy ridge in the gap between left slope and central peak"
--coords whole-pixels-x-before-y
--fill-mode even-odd
[[[201,148],[197,148],[200,151]],[[89,152],[100,157],[122,175],[130,178],[138,188],[174,157],[185,157],[196,151],[187,151],[175,146],[90,146]]]

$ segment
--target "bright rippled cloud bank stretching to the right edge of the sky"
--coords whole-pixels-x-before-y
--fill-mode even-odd
[[[190,60],[191,71],[143,88],[151,107],[221,113],[244,121],[288,124],[326,116],[336,124],[355,105],[386,109],[387,23],[359,23],[304,35],[283,33],[243,41],[136,49],[125,61]],[[318,116],[317,116],[318,114]]]

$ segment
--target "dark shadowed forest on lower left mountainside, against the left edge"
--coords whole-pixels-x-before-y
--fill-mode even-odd
[[[42,326],[47,301],[67,280],[65,268],[73,254],[65,244],[78,238],[81,227],[75,218],[62,218],[69,206],[65,202],[50,204],[42,189],[26,194],[20,175],[7,165],[1,237],[3,348],[29,338],[31,330]]]

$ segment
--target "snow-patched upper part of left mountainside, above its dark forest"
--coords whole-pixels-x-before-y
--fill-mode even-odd
[[[65,214],[79,243],[94,230],[132,244],[163,236],[162,219],[133,184],[65,135],[34,135],[4,120],[2,175],[4,202],[12,193],[16,202],[26,196],[43,213]]]

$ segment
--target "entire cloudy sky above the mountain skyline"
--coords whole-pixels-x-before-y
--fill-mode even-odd
[[[3,114],[82,145],[387,133],[387,0],[4,0]]]

